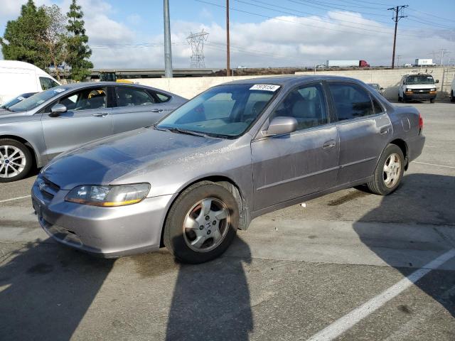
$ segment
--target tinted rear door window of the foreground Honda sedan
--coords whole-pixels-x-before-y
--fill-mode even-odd
[[[353,83],[328,82],[338,121],[374,114],[370,94]]]

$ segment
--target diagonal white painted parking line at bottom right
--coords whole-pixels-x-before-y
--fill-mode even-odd
[[[420,278],[428,274],[433,269],[439,268],[446,261],[455,256],[455,249],[450,249],[445,254],[442,254],[437,259],[430,261],[424,265],[422,269],[414,271],[410,276],[403,278],[401,281],[391,286],[385,291],[382,291],[378,296],[375,296],[370,301],[363,303],[360,307],[355,308],[350,313],[339,318],[331,325],[316,333],[308,339],[308,341],[330,341],[349,330],[354,325],[363,320],[368,315],[378,310],[382,305],[390,301],[395,296],[405,291],[407,288],[412,286],[414,283],[419,281]]]

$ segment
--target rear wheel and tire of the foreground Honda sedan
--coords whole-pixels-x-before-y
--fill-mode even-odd
[[[368,189],[378,195],[388,195],[398,188],[405,172],[405,156],[400,147],[389,144],[385,147],[376,166]]]

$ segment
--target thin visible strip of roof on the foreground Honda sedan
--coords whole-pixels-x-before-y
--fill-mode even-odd
[[[330,75],[287,75],[287,76],[272,76],[272,77],[257,77],[248,78],[245,80],[235,80],[226,84],[273,84],[282,86],[292,86],[301,82],[314,82],[321,80],[338,80],[345,82],[360,82],[355,78]]]

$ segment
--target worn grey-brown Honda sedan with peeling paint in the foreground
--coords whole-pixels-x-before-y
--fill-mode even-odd
[[[58,156],[33,207],[69,247],[117,257],[166,246],[201,263],[266,212],[355,185],[392,193],[422,152],[422,127],[417,109],[350,78],[230,82]]]

